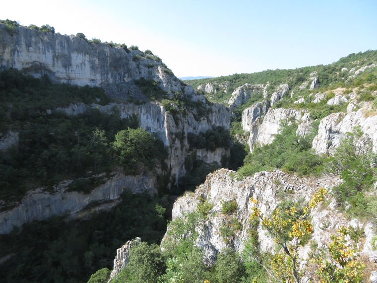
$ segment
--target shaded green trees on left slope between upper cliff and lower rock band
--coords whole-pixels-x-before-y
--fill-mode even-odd
[[[18,145],[0,156],[1,199],[19,198],[38,186],[51,188],[64,179],[85,177],[98,183],[96,174],[117,166],[137,174],[152,170],[156,162],[161,167],[167,156],[162,141],[137,128],[136,116],[121,119],[117,108],[111,114],[88,109],[76,116],[54,110],[71,103],[109,102],[100,88],[54,84],[47,76],[10,69],[0,73],[0,98],[1,132],[19,132]],[[86,191],[83,182],[77,190]]]

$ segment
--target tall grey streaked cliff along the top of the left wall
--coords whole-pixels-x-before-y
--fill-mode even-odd
[[[138,50],[125,50],[107,43],[91,43],[76,36],[43,33],[16,27],[10,35],[0,24],[0,70],[15,68],[36,76],[77,85],[103,86],[109,94],[121,88],[132,91],[133,81],[158,81],[169,93],[192,93],[159,59]]]

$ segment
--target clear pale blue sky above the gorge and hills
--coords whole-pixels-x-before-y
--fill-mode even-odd
[[[377,0],[18,0],[0,19],[151,50],[176,76],[330,64],[377,49]]]

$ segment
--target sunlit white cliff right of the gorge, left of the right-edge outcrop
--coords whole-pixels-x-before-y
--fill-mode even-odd
[[[244,113],[247,115],[246,112]],[[244,119],[248,120],[247,117],[243,117],[243,121]],[[288,119],[293,119],[299,125],[296,132],[297,135],[305,136],[310,132],[312,121],[310,120],[309,113],[294,109],[270,108],[264,116],[262,123],[260,123],[260,119],[255,119],[253,124],[245,125],[245,128],[243,128],[244,131],[250,129],[250,150],[252,151],[255,143],[271,143],[275,135],[279,133],[281,121],[287,121]]]

